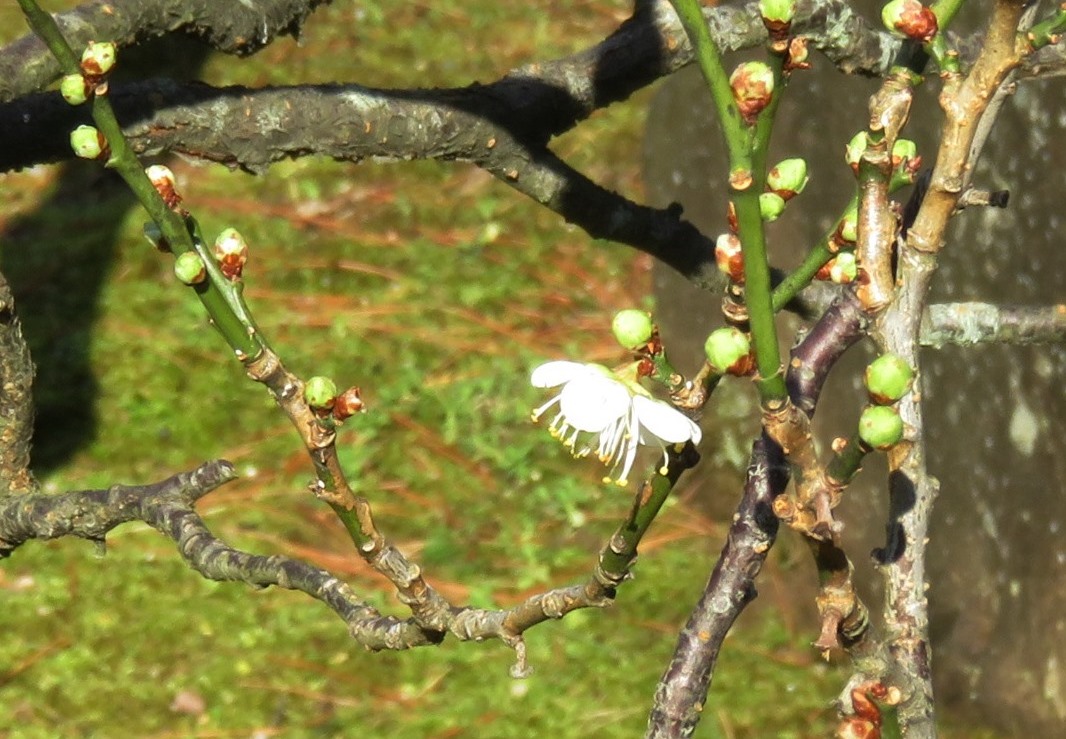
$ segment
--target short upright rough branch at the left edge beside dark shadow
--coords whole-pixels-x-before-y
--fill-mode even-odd
[[[33,360],[0,274],[0,496],[37,492],[30,471],[33,415]]]

